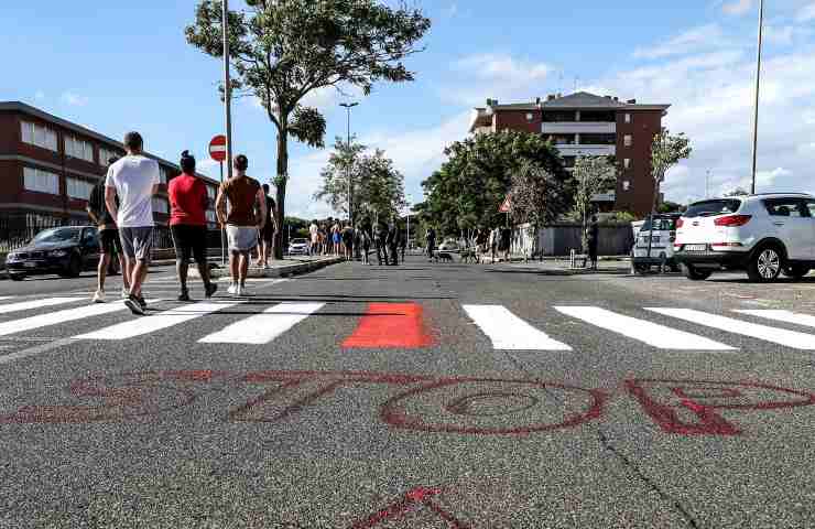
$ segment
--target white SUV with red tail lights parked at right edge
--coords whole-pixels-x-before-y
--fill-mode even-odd
[[[752,281],[780,273],[800,279],[815,268],[815,197],[776,193],[702,201],[676,223],[674,259],[685,276],[747,270]]]

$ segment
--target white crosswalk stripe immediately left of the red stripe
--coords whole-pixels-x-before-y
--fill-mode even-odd
[[[325,303],[281,303],[204,336],[203,344],[263,345],[325,306]]]

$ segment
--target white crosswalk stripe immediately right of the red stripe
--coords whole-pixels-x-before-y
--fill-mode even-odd
[[[572,350],[501,305],[464,305],[498,350]]]

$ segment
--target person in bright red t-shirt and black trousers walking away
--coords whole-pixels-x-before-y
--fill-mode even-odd
[[[187,291],[189,258],[195,257],[198,272],[204,280],[207,298],[211,298],[218,285],[209,280],[207,266],[207,218],[209,205],[207,186],[195,176],[195,158],[189,151],[181,153],[182,174],[170,181],[170,230],[175,246],[175,269],[181,281],[178,301],[191,301]]]

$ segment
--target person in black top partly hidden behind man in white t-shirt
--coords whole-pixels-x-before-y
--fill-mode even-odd
[[[111,158],[108,165],[115,164],[119,159]],[[119,202],[119,198],[116,198]],[[99,182],[90,191],[88,205],[85,208],[88,217],[99,230],[99,266],[96,271],[96,292],[94,292],[94,303],[105,303],[105,279],[108,274],[108,268],[113,259],[119,260],[119,270],[121,272],[122,289],[121,298],[127,299],[130,294],[130,277],[128,276],[128,261],[121,251],[121,241],[119,240],[119,228],[116,226],[116,219],[108,212],[105,205],[105,181]]]

